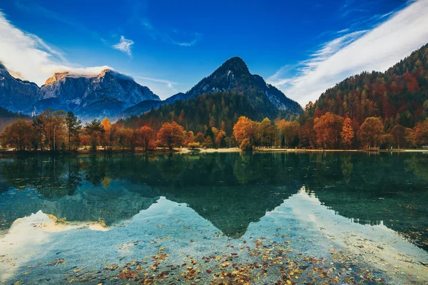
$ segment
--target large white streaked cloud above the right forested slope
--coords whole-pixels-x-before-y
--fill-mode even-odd
[[[281,68],[267,81],[306,105],[327,88],[362,71],[386,71],[428,42],[428,1],[414,1],[369,31],[355,31],[325,43],[295,76]],[[288,74],[287,74],[288,73]]]

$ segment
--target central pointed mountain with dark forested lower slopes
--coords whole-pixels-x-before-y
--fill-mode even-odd
[[[205,133],[210,126],[230,134],[241,115],[263,120],[266,117],[295,118],[302,113],[298,103],[267,84],[261,76],[251,74],[238,57],[225,61],[188,92],[171,96],[158,108],[144,103],[139,107],[138,112],[143,115],[136,117],[138,113],[133,108],[128,113],[133,116],[120,120],[120,123],[128,128],[139,128],[144,124],[159,128],[166,121],[176,120],[186,130]]]

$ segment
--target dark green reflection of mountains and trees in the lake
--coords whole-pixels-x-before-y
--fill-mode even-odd
[[[185,203],[230,237],[302,186],[361,224],[381,222],[428,249],[428,155],[214,153],[1,159],[0,229],[39,210],[106,226],[159,197]]]

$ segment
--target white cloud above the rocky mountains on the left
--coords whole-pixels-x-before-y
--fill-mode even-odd
[[[0,61],[21,79],[41,86],[55,72],[92,76],[108,66],[82,68],[68,63],[61,51],[38,36],[21,31],[0,11]],[[113,69],[113,68],[111,68]]]

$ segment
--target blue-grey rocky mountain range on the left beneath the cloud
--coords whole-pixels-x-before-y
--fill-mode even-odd
[[[55,73],[39,88],[14,78],[0,64],[0,106],[14,112],[35,115],[53,108],[72,110],[81,118],[102,118],[118,115],[144,100],[160,99],[133,78],[110,69],[96,76]]]

